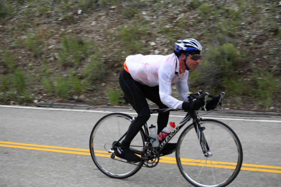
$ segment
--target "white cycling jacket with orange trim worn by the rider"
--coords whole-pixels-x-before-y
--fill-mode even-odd
[[[171,96],[172,83],[176,83],[180,98],[188,101],[188,71],[181,72],[179,59],[175,54],[131,55],[126,58],[124,67],[134,80],[150,87],[159,85],[159,95],[164,105],[182,109],[183,101]]]

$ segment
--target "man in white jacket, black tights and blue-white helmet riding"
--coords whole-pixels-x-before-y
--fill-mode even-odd
[[[138,131],[150,118],[147,99],[154,102],[160,109],[173,108],[198,110],[204,103],[201,100],[188,102],[188,70],[194,70],[200,63],[202,47],[195,39],[178,40],[175,50],[170,55],[131,55],[124,62],[119,76],[122,91],[130,105],[138,113],[137,118],[129,126],[125,139],[115,151],[116,156],[128,161],[138,162],[140,157],[135,155],[129,145]],[[176,87],[180,98],[172,97],[172,83]],[[157,118],[157,133],[166,127],[169,112],[159,113]],[[174,152],[176,143],[168,143],[159,153],[160,156]]]

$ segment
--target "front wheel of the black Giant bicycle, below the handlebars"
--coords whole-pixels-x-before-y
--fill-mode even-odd
[[[177,143],[179,170],[194,186],[226,186],[240,171],[243,159],[241,143],[234,131],[223,122],[205,119],[199,126],[209,148],[208,154],[203,154],[195,128],[193,124],[189,125]]]

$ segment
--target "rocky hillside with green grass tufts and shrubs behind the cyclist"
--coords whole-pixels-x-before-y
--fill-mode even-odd
[[[224,108],[279,112],[280,17],[275,0],[2,0],[0,104],[122,105],[126,56],[168,55],[195,38],[203,51],[190,91],[225,91]]]

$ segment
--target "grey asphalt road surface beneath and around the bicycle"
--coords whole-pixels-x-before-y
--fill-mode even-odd
[[[89,155],[88,141],[94,124],[106,114],[0,106],[0,186],[192,186],[172,163],[142,168],[123,180],[99,171]],[[171,115],[170,121],[182,119],[182,113]],[[280,118],[214,116],[236,132],[243,147],[246,165],[229,186],[280,186]],[[152,123],[155,115],[148,121]]]

